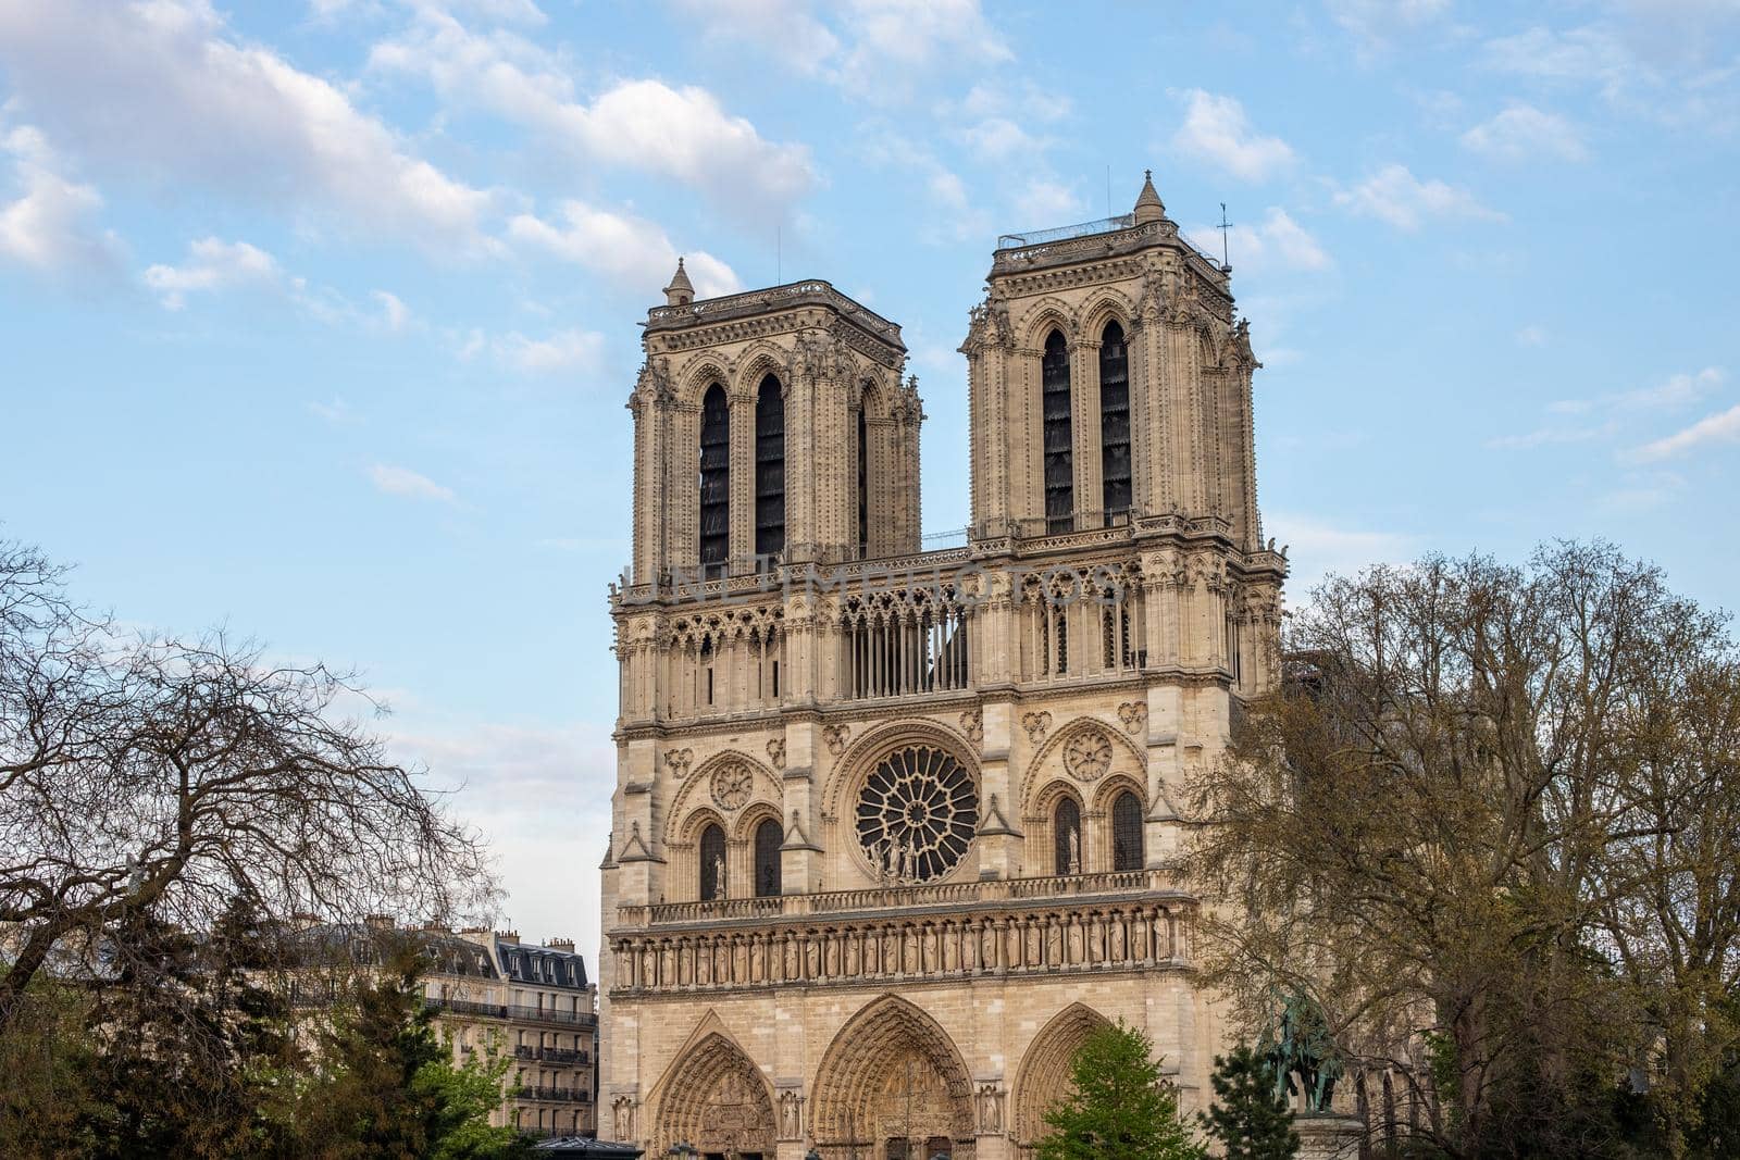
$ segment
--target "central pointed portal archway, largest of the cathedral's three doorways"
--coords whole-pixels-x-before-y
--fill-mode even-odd
[[[833,1037],[811,1117],[826,1160],[973,1160],[973,1082],[934,1019],[884,995]]]

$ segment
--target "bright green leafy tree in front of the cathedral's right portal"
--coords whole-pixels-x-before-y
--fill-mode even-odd
[[[1070,1090],[1046,1113],[1039,1160],[1201,1160],[1148,1037],[1122,1021],[1088,1037]]]

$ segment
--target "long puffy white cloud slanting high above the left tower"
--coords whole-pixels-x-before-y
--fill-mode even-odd
[[[442,97],[524,125],[578,157],[672,177],[736,209],[788,203],[816,184],[809,150],[776,144],[706,89],[625,80],[578,99],[562,63],[524,37],[478,35],[442,12],[369,54],[372,68],[421,77]]]

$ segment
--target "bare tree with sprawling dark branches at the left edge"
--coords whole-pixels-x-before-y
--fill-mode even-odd
[[[184,930],[235,899],[285,929],[482,913],[477,837],[358,713],[378,706],[322,664],[122,633],[0,541],[0,1030],[59,957],[124,972],[141,913]]]

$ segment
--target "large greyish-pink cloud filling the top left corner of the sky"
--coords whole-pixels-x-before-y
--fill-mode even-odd
[[[345,230],[480,243],[491,195],[412,157],[332,83],[240,42],[200,0],[0,5],[14,99],[92,167],[202,184]]]

